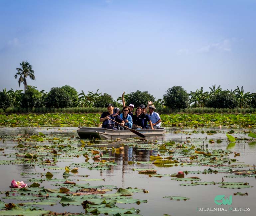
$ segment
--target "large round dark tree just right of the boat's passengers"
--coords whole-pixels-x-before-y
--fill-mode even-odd
[[[181,86],[173,86],[167,89],[163,101],[171,109],[185,109],[189,106],[189,94]]]

